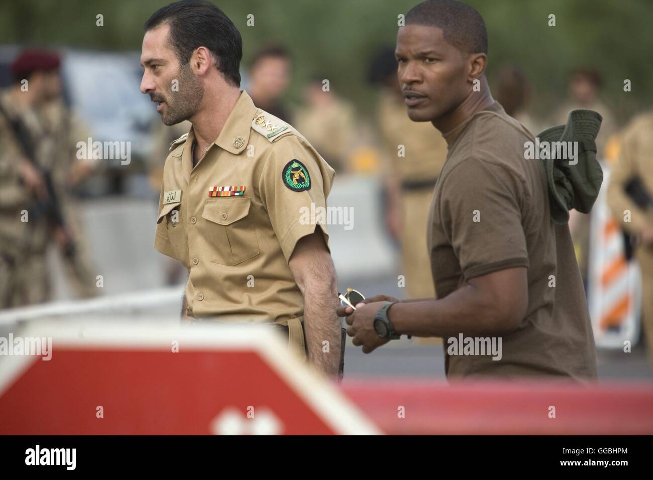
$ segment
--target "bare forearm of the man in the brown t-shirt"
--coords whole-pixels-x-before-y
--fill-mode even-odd
[[[496,301],[496,300],[495,300]],[[398,334],[447,338],[500,334],[511,330],[492,300],[466,285],[441,300],[401,302],[390,308],[389,319]]]

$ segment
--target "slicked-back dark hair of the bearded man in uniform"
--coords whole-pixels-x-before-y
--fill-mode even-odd
[[[240,86],[242,39],[225,12],[208,1],[182,0],[159,8],[143,29],[148,31],[165,23],[170,25],[168,43],[180,65],[188,63],[195,49],[204,46],[214,55],[225,79]]]

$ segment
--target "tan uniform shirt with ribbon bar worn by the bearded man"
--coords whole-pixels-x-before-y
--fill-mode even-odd
[[[194,142],[191,129],[166,159],[154,242],[189,270],[188,313],[251,323],[302,316],[288,261],[315,231],[306,209],[326,207],[334,170],[245,91],[193,168]],[[234,190],[242,195],[220,196]]]

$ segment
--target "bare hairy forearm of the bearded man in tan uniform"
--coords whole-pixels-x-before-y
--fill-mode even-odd
[[[308,358],[328,376],[338,376],[340,366],[340,319],[336,316],[336,276],[311,278],[304,284],[304,330]]]

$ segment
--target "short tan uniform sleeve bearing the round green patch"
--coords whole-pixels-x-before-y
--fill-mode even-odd
[[[286,261],[297,241],[319,225],[328,247],[327,225],[321,220],[334,170],[295,135],[279,138],[264,160],[259,195]]]

